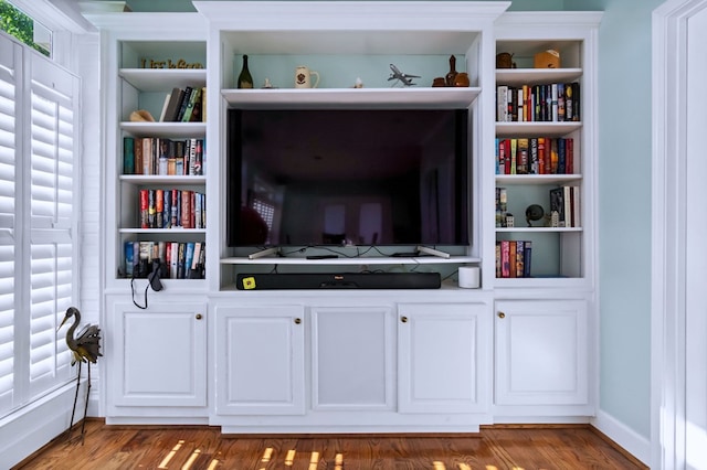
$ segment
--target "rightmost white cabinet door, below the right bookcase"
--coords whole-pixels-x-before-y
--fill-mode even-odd
[[[496,404],[588,403],[587,302],[496,302]]]

